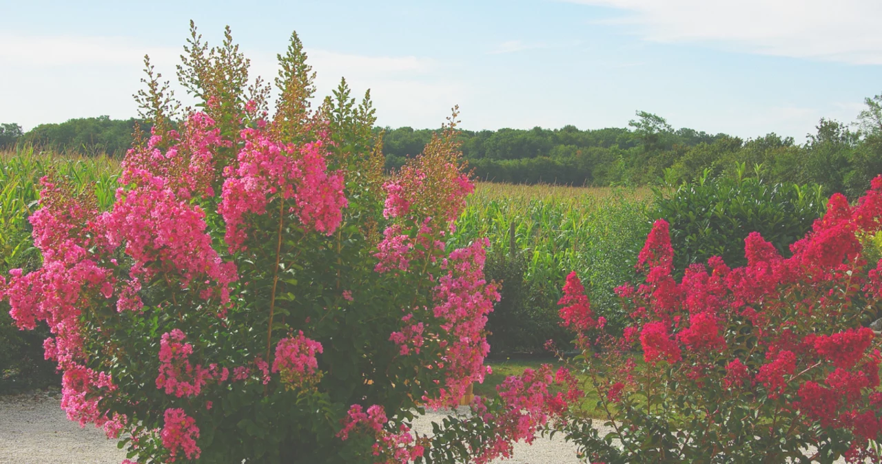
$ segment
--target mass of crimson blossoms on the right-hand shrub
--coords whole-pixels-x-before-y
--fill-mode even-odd
[[[861,239],[880,230],[882,176],[856,206],[833,195],[826,215],[790,247],[790,257],[753,232],[744,240],[744,267],[730,269],[713,257],[684,269],[677,282],[669,225],[660,219],[639,254],[645,282],[616,289],[633,324],[609,346],[629,350],[639,339],[647,363],[672,365],[678,388],[721,388],[722,395],[748,389],[756,401],[800,411],[823,433],[851,431],[847,457],[866,457],[867,440],[882,438],[882,394],[874,392],[882,355],[878,337],[857,322],[863,306],[882,297],[882,261],[867,266]],[[589,327],[582,291],[569,276],[561,300],[567,305],[564,326]],[[627,385],[610,380],[606,400],[618,401]]]

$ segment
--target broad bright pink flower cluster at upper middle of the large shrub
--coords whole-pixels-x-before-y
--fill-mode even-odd
[[[275,140],[266,129],[243,129],[243,149],[236,166],[224,171],[226,180],[218,210],[227,223],[225,239],[231,251],[243,248],[246,214],[265,214],[267,205],[288,202],[287,212],[312,230],[328,235],[342,220],[347,206],[343,175],[328,173],[325,142],[295,146]]]

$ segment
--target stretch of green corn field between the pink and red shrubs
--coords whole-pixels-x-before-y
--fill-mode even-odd
[[[532,318],[551,325],[566,275],[575,270],[594,310],[621,328],[624,314],[613,289],[635,277],[637,254],[650,229],[651,198],[648,188],[479,184],[456,223],[451,245],[461,247],[483,236],[493,247],[491,260],[518,255]]]

